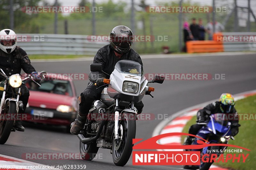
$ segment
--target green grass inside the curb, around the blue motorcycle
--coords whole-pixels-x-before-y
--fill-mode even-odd
[[[247,98],[238,100],[236,102],[236,110],[238,113],[256,113],[256,95],[249,96]],[[188,129],[192,124],[195,124],[196,116],[193,117],[183,129],[183,132],[188,133]],[[243,150],[243,154],[246,155],[249,153],[250,155],[247,157],[245,163],[237,163],[232,161],[228,161],[227,163],[214,163],[214,165],[219,165],[221,167],[226,167],[234,170],[254,170],[255,169],[255,159],[256,159],[256,137],[255,137],[255,129],[256,122],[255,120],[240,120],[239,124],[239,133],[235,136],[235,140],[229,140],[228,144],[238,145],[250,149],[251,151]],[[182,138],[182,141],[184,138]],[[231,153],[233,154],[233,153]]]

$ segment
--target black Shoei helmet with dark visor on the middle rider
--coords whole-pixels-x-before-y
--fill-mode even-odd
[[[109,43],[118,54],[127,53],[132,48],[132,30],[124,25],[118,25],[110,32]]]

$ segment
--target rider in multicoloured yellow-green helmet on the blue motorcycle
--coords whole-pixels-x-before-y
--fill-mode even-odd
[[[235,100],[233,95],[229,93],[222,93],[220,101],[213,102],[205,106],[203,109],[197,112],[197,123],[204,123],[210,120],[210,115],[214,113],[226,113],[233,114],[234,120],[229,120],[231,123],[231,136],[235,136],[238,133],[238,114],[235,109]],[[193,124],[190,126],[188,133],[196,135],[197,132],[203,127],[200,124]],[[183,145],[191,145],[195,137],[188,136]]]

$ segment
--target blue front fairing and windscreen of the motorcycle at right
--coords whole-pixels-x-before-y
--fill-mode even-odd
[[[215,130],[220,133],[226,133],[228,131],[229,129],[228,120],[226,120],[226,117],[224,114],[222,113],[212,114],[212,120],[210,120],[210,122],[208,122],[207,124],[209,128],[213,129],[212,127],[212,124],[213,124]]]

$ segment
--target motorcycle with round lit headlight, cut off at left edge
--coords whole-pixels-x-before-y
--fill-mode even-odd
[[[39,75],[43,79],[46,72],[42,71]],[[34,81],[38,86],[40,84],[34,80],[31,74],[28,74],[24,79],[21,78],[20,74],[12,74],[8,77],[1,68],[0,76],[4,77],[0,82],[0,91],[3,93],[0,102],[0,144],[5,144],[11,131],[15,131],[13,128],[15,118],[12,117],[16,117],[19,110],[23,109],[23,103],[19,100],[22,81],[28,79]]]

